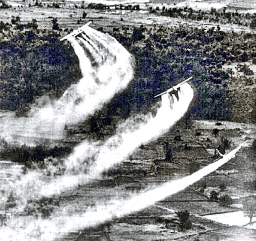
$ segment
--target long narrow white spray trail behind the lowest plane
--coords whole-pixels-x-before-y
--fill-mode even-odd
[[[0,237],[0,240],[1,238],[2,240],[11,240],[14,237],[18,237],[18,240],[30,241],[34,240],[35,237],[33,235],[38,234],[39,236],[36,236],[37,240],[54,240],[57,237],[60,238],[60,234],[65,235],[68,232],[81,231],[83,229],[91,228],[107,221],[138,212],[154,204],[155,202],[166,198],[167,196],[173,195],[185,189],[209,173],[217,170],[220,166],[234,158],[236,152],[238,152],[244,144],[245,142],[239,145],[233,151],[224,155],[218,161],[209,164],[208,166],[194,172],[189,176],[167,182],[166,184],[156,187],[153,190],[141,192],[140,194],[129,199],[111,200],[106,205],[98,205],[93,208],[88,208],[88,211],[83,214],[72,216],[59,215],[59,217],[54,215],[53,218],[48,220],[37,220],[34,223],[30,223],[26,229],[21,230],[19,234],[15,234],[15,232],[10,232],[10,230],[3,228],[1,230],[2,236]]]

